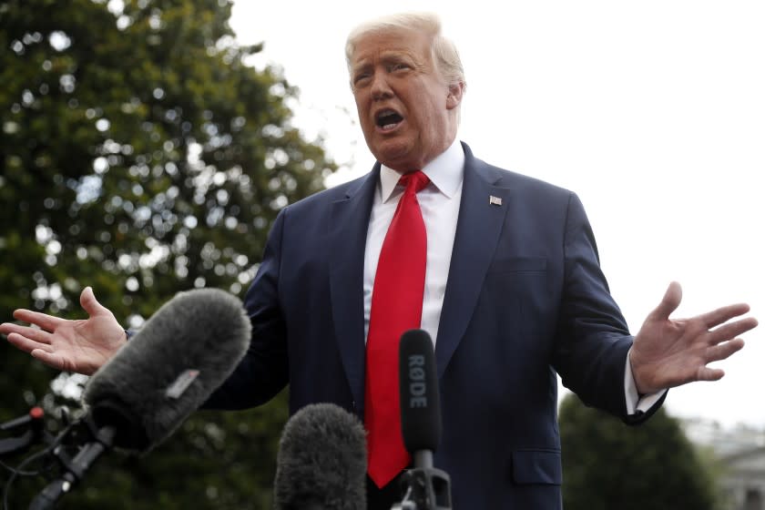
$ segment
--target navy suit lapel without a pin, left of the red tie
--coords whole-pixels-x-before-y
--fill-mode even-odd
[[[331,204],[329,225],[332,321],[342,366],[358,406],[364,394],[364,249],[379,179],[377,164],[348,189],[344,199]]]

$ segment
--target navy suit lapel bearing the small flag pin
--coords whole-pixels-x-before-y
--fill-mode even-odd
[[[500,175],[475,159],[463,144],[464,182],[452,262],[435,342],[439,378],[452,359],[484,285],[497,241],[505,224],[509,189],[496,186]]]

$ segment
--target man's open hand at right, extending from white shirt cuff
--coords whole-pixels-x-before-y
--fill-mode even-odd
[[[731,321],[750,310],[744,303],[690,319],[669,319],[681,299],[680,285],[673,281],[637,332],[629,361],[639,393],[654,393],[693,381],[719,380],[725,372],[707,364],[738,352],[744,346],[739,335],[757,326],[753,317]]]

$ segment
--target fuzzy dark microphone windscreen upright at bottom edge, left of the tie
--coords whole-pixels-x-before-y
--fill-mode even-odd
[[[366,436],[333,403],[312,403],[284,426],[274,480],[276,510],[365,510]]]

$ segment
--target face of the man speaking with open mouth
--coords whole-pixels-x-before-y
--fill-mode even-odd
[[[367,146],[382,164],[422,169],[454,141],[463,86],[450,87],[436,68],[430,36],[403,29],[362,36],[351,87]]]

